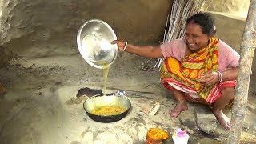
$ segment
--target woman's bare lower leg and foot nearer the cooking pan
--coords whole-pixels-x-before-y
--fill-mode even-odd
[[[176,106],[174,106],[174,109],[170,110],[170,116],[177,118],[182,111],[187,110],[186,99],[182,91],[176,89],[172,89],[171,91],[174,94]]]

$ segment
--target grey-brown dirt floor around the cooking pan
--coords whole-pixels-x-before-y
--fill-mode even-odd
[[[168,111],[174,106],[174,99],[159,84],[158,70],[142,71],[140,66],[132,71],[124,67],[123,74],[114,74],[115,70],[111,69],[108,80],[107,90],[133,90],[142,94],[137,97],[128,95],[134,105],[132,112],[114,124],[93,122],[82,109],[86,98],[77,99],[76,94],[84,87],[101,89],[102,75],[94,69],[91,72],[96,73],[95,76],[85,74],[85,64],[79,57],[57,59],[77,63],[80,69],[74,69],[74,65],[40,66],[37,70],[9,66],[0,71],[1,77],[5,76],[7,90],[0,100],[0,143],[101,143],[105,138],[102,134],[110,135],[110,131],[114,132],[111,133],[114,141],[106,143],[143,143],[146,130],[155,126],[170,134],[177,127],[185,128],[190,135],[189,143],[222,143],[226,140],[228,133],[219,125],[212,134],[198,129],[194,114],[197,104],[190,103],[189,110],[176,119],[170,118]],[[155,116],[148,116],[142,109],[152,102],[160,102],[160,111]],[[250,93],[248,104],[242,133],[245,143],[254,142],[256,138],[255,94]],[[230,109],[226,109],[226,113],[230,115]],[[93,129],[95,127],[97,130]],[[126,138],[125,132],[113,136],[120,134],[120,129],[126,133],[132,129],[134,131],[128,135],[134,136]],[[166,143],[172,143],[171,138]]]

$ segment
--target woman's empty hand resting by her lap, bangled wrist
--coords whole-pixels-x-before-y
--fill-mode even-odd
[[[218,73],[216,71],[207,71],[199,77],[198,81],[205,85],[213,85],[218,82]]]

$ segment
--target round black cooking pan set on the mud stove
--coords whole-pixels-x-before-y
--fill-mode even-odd
[[[116,115],[96,115],[92,114],[92,111],[101,106],[122,106],[125,108],[121,114]],[[83,108],[86,110],[88,116],[97,122],[116,122],[124,118],[128,111],[130,110],[131,104],[130,100],[126,96],[120,96],[118,94],[98,94],[93,97],[86,99],[83,103]]]

